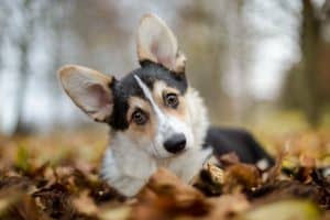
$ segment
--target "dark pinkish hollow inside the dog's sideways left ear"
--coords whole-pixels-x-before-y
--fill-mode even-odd
[[[101,85],[95,84],[92,86],[89,86],[88,95],[94,99],[95,107],[97,108],[103,108],[107,105],[111,103],[110,101],[110,94],[107,94],[107,91],[103,89]]]

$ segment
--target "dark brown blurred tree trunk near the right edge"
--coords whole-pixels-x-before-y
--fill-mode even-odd
[[[320,68],[322,20],[312,0],[301,1],[301,24],[299,46],[301,59],[288,73],[283,102],[287,107],[302,110],[308,123],[317,127],[320,123],[323,100],[321,96]]]

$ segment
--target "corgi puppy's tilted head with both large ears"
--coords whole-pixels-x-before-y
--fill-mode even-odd
[[[186,58],[177,40],[160,18],[146,14],[138,32],[141,67],[117,80],[96,70],[68,65],[59,79],[73,101],[90,118],[109,123],[113,135],[162,158],[200,142],[206,120],[199,97],[188,88]],[[201,106],[201,105],[200,105]],[[197,116],[196,116],[197,114]],[[205,122],[206,123],[206,122]],[[200,143],[198,143],[200,144]]]

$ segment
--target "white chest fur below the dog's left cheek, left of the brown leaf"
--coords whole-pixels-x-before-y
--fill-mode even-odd
[[[156,162],[122,132],[116,133],[110,145],[102,163],[102,178],[124,196],[136,195],[156,170]]]

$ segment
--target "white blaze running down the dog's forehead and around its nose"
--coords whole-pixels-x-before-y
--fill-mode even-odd
[[[155,152],[157,152],[158,155],[155,156],[168,157],[173,155],[164,148],[164,142],[172,135],[177,133],[185,134],[186,148],[193,147],[194,135],[190,125],[174,116],[163,112],[162,109],[155,102],[152,91],[148,89],[148,87],[139,78],[139,76],[134,75],[134,78],[140,88],[142,89],[144,96],[150,101],[152,109],[156,116],[155,118],[157,119],[157,131],[154,138],[153,145],[155,147]]]

